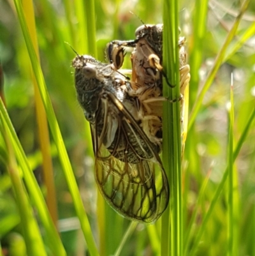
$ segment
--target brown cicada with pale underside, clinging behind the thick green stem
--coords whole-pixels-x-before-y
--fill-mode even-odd
[[[106,54],[113,69],[122,66],[125,48],[133,47],[131,54],[133,95],[140,100],[140,116],[143,131],[150,141],[158,144],[162,142],[163,116],[163,77],[169,84],[163,70],[163,24],[143,25],[135,32],[136,39],[129,41],[112,41],[108,44]],[[185,38],[179,37],[180,59],[180,93],[189,83],[189,65],[186,64]],[[184,116],[184,100],[181,99],[181,112]]]

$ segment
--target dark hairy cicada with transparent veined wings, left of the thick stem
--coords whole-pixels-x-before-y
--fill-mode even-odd
[[[168,206],[168,179],[159,145],[141,126],[131,82],[91,56],[77,54],[73,68],[77,99],[91,125],[100,192],[120,215],[155,222]]]

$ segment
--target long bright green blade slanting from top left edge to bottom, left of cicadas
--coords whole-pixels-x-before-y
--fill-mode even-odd
[[[25,22],[24,12],[22,10],[20,1],[15,0],[15,7],[17,9],[18,19],[20,21],[20,26],[22,27],[22,32],[24,34],[24,39],[27,45],[27,50],[29,52],[29,57],[31,59],[34,75],[36,77],[36,82],[39,86],[41,98],[43,100],[43,105],[47,113],[48,123],[50,124],[50,130],[52,132],[54,142],[57,146],[57,151],[59,152],[59,159],[64,170],[64,175],[66,176],[66,181],[68,183],[69,190],[73,198],[73,202],[75,205],[75,209],[77,211],[77,216],[80,220],[82,231],[84,232],[84,236],[87,241],[89,252],[91,253],[91,255],[98,255],[98,250],[96,248],[94,237],[92,236],[89,220],[87,218],[84,206],[82,204],[82,199],[80,197],[78,186],[75,181],[73,171],[71,169],[71,163],[69,162],[68,154],[66,152],[61,132],[59,130],[59,125],[57,124],[57,119],[54,114],[52,103],[50,102],[50,97],[48,95],[47,87],[45,85],[43,73],[41,72],[40,64],[38,63],[38,59],[36,58],[36,54],[31,43],[31,38],[27,30],[27,24]]]

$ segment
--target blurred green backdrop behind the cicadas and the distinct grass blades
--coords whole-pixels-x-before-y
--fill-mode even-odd
[[[252,3],[253,2],[253,3]],[[83,8],[94,3],[95,15],[87,22],[87,33],[82,31]],[[186,36],[186,49],[191,66],[189,86],[190,107],[207,79],[215,58],[235,22],[240,1],[180,1],[179,26]],[[135,38],[135,29],[145,24],[162,23],[162,1],[47,1],[33,2],[36,36],[40,64],[50,100],[61,130],[64,144],[75,173],[85,211],[100,255],[113,255],[122,241],[129,221],[117,215],[110,207],[97,199],[94,181],[94,157],[89,126],[85,122],[76,96],[71,60],[75,53],[96,55],[106,62],[106,43]],[[203,10],[201,9],[203,8]],[[93,18],[94,17],[94,18]],[[141,22],[142,20],[142,22]],[[189,130],[183,159],[183,234],[184,255],[226,255],[228,239],[228,185],[224,184],[215,207],[202,227],[199,243],[196,235],[228,164],[228,112],[231,75],[235,120],[233,124],[234,149],[244,134],[248,119],[254,112],[255,96],[255,2],[245,11],[237,33],[224,55],[222,65],[214,76],[212,86],[203,96],[203,103],[193,126]],[[89,52],[87,35],[96,33],[96,51]],[[84,43],[85,42],[85,43]],[[38,125],[31,78],[31,62],[27,54],[24,36],[17,19],[13,1],[0,0],[0,61],[1,91],[6,109],[18,139],[22,144],[31,169],[43,195],[47,188],[43,182],[42,158],[38,139]],[[130,68],[126,58],[125,68]],[[253,121],[253,119],[252,119]],[[3,255],[26,255],[22,248],[22,229],[17,202],[8,175],[8,151],[3,139],[3,120],[0,137],[0,240]],[[255,255],[255,129],[251,122],[249,133],[242,140],[242,148],[233,165],[235,252],[233,255]],[[80,230],[57,150],[50,133],[50,155],[55,183],[55,196],[59,232],[67,255],[89,255]],[[29,184],[25,184],[29,186]],[[51,199],[48,199],[51,200]],[[33,202],[31,202],[33,206]],[[36,210],[34,215],[37,216]],[[47,248],[47,238],[39,221],[41,236]],[[160,255],[160,223],[154,226],[138,224],[132,236],[124,244],[120,255]],[[20,243],[20,244],[19,244]],[[15,250],[15,245],[18,250]],[[194,248],[195,246],[195,248]],[[194,252],[195,250],[196,252]],[[19,252],[17,252],[19,251]],[[48,255],[53,255],[47,249]],[[191,252],[191,254],[190,254]],[[9,253],[9,254],[8,254]],[[20,254],[18,254],[20,253]],[[192,254],[193,253],[193,254]]]

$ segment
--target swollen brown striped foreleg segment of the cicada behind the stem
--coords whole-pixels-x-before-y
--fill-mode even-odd
[[[124,48],[120,45],[117,45],[117,43],[108,43],[106,46],[106,55],[108,61],[113,63],[115,68],[119,70],[124,62]]]

